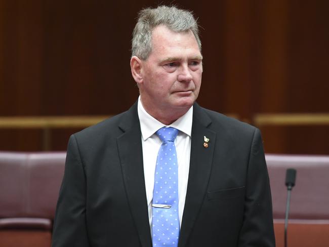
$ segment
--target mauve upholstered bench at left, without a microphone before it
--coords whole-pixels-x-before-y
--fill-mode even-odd
[[[51,245],[65,152],[0,152],[0,246]]]

